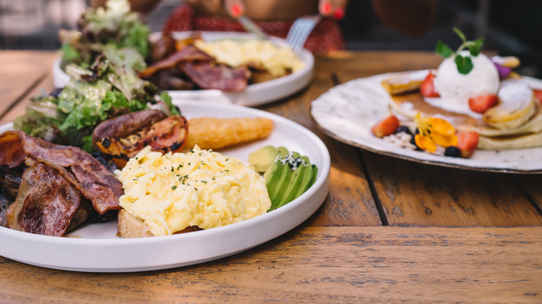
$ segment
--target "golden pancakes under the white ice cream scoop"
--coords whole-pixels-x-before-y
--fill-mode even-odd
[[[542,90],[542,81],[512,73],[500,81],[497,105],[483,114],[464,114],[440,108],[420,94],[420,85],[428,73],[398,73],[382,81],[391,95],[391,112],[406,119],[404,124],[414,126],[413,119],[420,112],[422,116],[447,120],[457,131],[477,132],[478,149],[542,146],[542,109],[534,95],[534,90]]]

